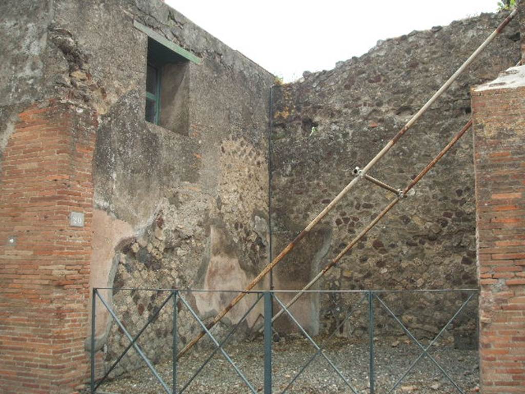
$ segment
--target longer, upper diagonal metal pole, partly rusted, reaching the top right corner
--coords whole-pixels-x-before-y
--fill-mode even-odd
[[[476,57],[478,57],[478,55],[485,49],[485,47],[487,47],[487,45],[489,45],[492,42],[492,40],[496,38],[498,34],[501,33],[501,31],[505,28],[505,26],[509,24],[509,22],[514,18],[514,16],[516,16],[517,13],[517,9],[514,9],[514,11],[510,13],[510,15],[498,26],[498,28],[494,30],[494,32],[492,32],[492,34],[485,40],[485,42],[482,43],[474,51],[474,53],[472,53],[472,55],[470,55],[470,57],[465,61],[465,63],[463,63],[463,65],[461,65],[461,67],[458,68],[454,75],[451,76],[445,82],[445,84],[434,94],[434,96],[432,96],[425,103],[425,105],[412,117],[412,119],[409,120],[408,123],[406,123],[406,125],[394,136],[394,138],[388,141],[386,146],[379,153],[376,154],[376,156],[366,165],[365,168],[362,169],[363,175],[366,174],[366,172],[368,172],[373,167],[373,165],[377,163],[377,161],[379,161],[401,137],[403,137],[403,135],[408,131],[408,129],[414,125],[414,123],[423,115],[424,112],[426,112],[426,110],[434,103],[434,101],[436,101],[439,98],[439,96],[441,96],[450,87],[450,85],[459,77],[459,75],[468,67],[468,65],[472,63],[472,61],[474,61]],[[290,242],[281,251],[281,253],[279,253],[274,258],[274,260],[270,264],[268,264],[262,269],[259,275],[257,275],[253,279],[253,281],[251,281],[246,286],[244,291],[247,292],[253,289],[255,285],[259,283],[261,279],[264,278],[265,275],[268,272],[270,272],[270,270],[274,268],[274,266],[277,263],[279,263],[288,253],[290,253],[293,250],[293,248],[313,229],[313,227],[315,227],[323,219],[323,217],[326,216],[334,208],[334,206],[337,205],[339,201],[341,201],[341,199],[355,186],[359,179],[360,178],[352,179],[352,181],[348,185],[346,185],[345,188],[337,196],[335,196],[335,198],[321,211],[321,213],[319,213],[319,215],[317,215],[315,219],[313,219],[310,222],[310,224],[308,224],[308,226],[306,226],[304,230],[302,230],[299,233],[299,235],[292,242]],[[220,321],[220,319],[222,319],[241,299],[243,299],[245,295],[246,293],[239,293],[217,316],[213,318],[211,322],[208,323],[207,328],[209,329],[215,326]],[[182,349],[179,352],[177,357],[183,356],[205,335],[205,331],[201,331],[194,339],[188,342],[184,349]]]

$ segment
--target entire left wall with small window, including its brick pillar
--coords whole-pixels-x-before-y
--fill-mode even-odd
[[[88,372],[90,287],[238,289],[266,264],[274,77],[160,0],[7,1],[0,14],[0,391],[71,392]],[[201,59],[186,64],[184,128],[145,121],[135,22]],[[163,297],[102,295],[132,332]],[[187,298],[204,318],[229,301]],[[100,374],[128,341],[101,303],[96,317]],[[153,361],[171,321],[143,334]],[[199,330],[182,308],[178,327],[181,346]]]

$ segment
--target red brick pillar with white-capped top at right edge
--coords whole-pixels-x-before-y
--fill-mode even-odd
[[[525,66],[472,89],[481,391],[525,393]]]

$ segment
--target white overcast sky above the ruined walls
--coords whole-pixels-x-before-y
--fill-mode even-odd
[[[331,69],[377,40],[494,12],[497,0],[165,0],[285,81]],[[472,48],[473,50],[475,48]]]

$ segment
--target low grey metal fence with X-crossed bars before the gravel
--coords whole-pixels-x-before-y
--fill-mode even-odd
[[[134,335],[131,334],[130,331],[131,328],[125,326],[125,324],[122,321],[122,318],[117,316],[117,313],[115,312],[114,308],[111,305],[110,300],[102,294],[103,291],[108,291],[113,294],[114,292],[121,292],[121,291],[151,291],[156,292],[158,294],[164,294],[164,298],[162,302],[155,307],[155,309],[152,311],[152,313],[149,315],[147,321],[145,324],[136,331]],[[133,348],[137,354],[140,356],[140,359],[144,362],[144,364],[149,368],[151,371],[152,376],[156,379],[158,383],[162,386],[162,392],[165,392],[167,394],[176,394],[176,393],[183,393],[188,392],[188,387],[192,384],[192,382],[199,376],[199,374],[203,373],[204,368],[208,365],[208,363],[217,355],[222,355],[224,360],[226,360],[227,364],[231,367],[231,370],[234,374],[238,376],[240,381],[244,383],[246,392],[251,393],[258,393],[258,392],[264,392],[265,394],[270,394],[272,392],[277,392],[275,390],[275,387],[272,388],[272,379],[274,379],[274,370],[272,370],[272,360],[275,357],[274,351],[272,351],[273,339],[274,333],[276,332],[274,330],[274,322],[272,322],[272,316],[275,316],[275,310],[279,309],[282,311],[283,315],[286,315],[289,319],[290,324],[296,327],[296,329],[299,331],[299,333],[303,336],[305,340],[308,341],[309,344],[315,349],[314,354],[312,354],[306,362],[303,362],[302,365],[297,366],[298,371],[295,371],[296,373],[293,376],[290,376],[289,381],[283,385],[284,387],[280,387],[278,392],[286,393],[290,390],[290,388],[296,383],[297,379],[303,375],[306,374],[307,368],[312,364],[312,362],[318,358],[323,359],[329,366],[329,368],[334,372],[334,374],[337,375],[337,377],[340,379],[340,381],[344,384],[346,392],[352,392],[354,394],[358,393],[371,393],[375,394],[379,391],[377,391],[376,386],[376,316],[379,313],[379,310],[383,313],[383,315],[388,316],[394,324],[397,325],[398,328],[400,328],[403,333],[407,336],[407,338],[412,341],[413,344],[415,344],[419,349],[419,355],[413,359],[411,364],[409,364],[408,368],[404,370],[400,376],[395,380],[393,385],[391,387],[382,387],[381,392],[385,393],[393,393],[395,390],[400,387],[401,383],[406,379],[406,377],[410,374],[411,371],[416,367],[418,363],[421,363],[423,359],[429,360],[430,364],[435,367],[435,370],[439,371],[440,374],[448,381],[451,385],[451,387],[454,388],[456,392],[464,393],[464,389],[460,387],[460,385],[453,379],[450,372],[447,372],[447,370],[440,364],[440,362],[431,354],[431,348],[434,344],[436,344],[436,341],[438,341],[439,338],[443,336],[445,331],[453,324],[457,319],[458,316],[460,316],[462,313],[464,313],[465,308],[469,304],[474,304],[472,302],[472,299],[475,298],[478,294],[477,289],[440,289],[440,290],[425,290],[425,291],[309,291],[307,294],[310,294],[311,296],[319,295],[319,294],[327,294],[329,296],[333,295],[352,295],[354,296],[354,300],[352,302],[352,305],[348,308],[345,308],[343,317],[338,320],[337,325],[335,325],[335,329],[332,330],[331,333],[328,335],[328,339],[333,338],[337,333],[341,330],[341,327],[343,327],[345,324],[347,324],[352,316],[354,315],[356,310],[362,311],[363,308],[366,310],[366,314],[362,314],[367,319],[367,350],[368,350],[368,357],[367,357],[367,388],[366,389],[358,389],[355,387],[355,379],[351,379],[350,376],[347,376],[345,372],[337,366],[337,363],[332,360],[331,357],[329,357],[327,351],[325,351],[325,346],[320,345],[318,343],[317,338],[312,337],[307,329],[301,325],[299,322],[299,319],[295,315],[295,313],[292,312],[290,307],[287,307],[286,302],[283,300],[283,297],[287,296],[287,293],[294,293],[294,292],[286,292],[286,291],[252,291],[252,292],[245,292],[247,294],[251,294],[251,297],[253,298],[253,302],[250,302],[247,307],[244,308],[242,316],[238,319],[236,324],[233,324],[229,327],[229,331],[223,336],[223,338],[218,338],[218,335],[212,332],[213,330],[210,329],[205,324],[205,319],[203,319],[201,316],[198,315],[198,313],[195,310],[195,306],[192,306],[192,302],[188,299],[190,299],[190,295],[192,293],[219,293],[219,291],[195,291],[195,290],[180,290],[180,289],[110,289],[110,288],[95,288],[93,289],[92,294],[92,331],[91,331],[91,382],[90,382],[90,392],[92,394],[99,393],[101,394],[102,391],[100,390],[100,386],[108,380],[108,378],[111,376],[112,371],[118,366],[119,362],[122,360],[122,358],[128,354],[129,350]],[[233,295],[234,293],[238,292],[224,292],[221,291],[220,293],[232,293],[230,295]],[[394,312],[395,305],[392,300],[388,300],[388,296],[392,295],[402,295],[402,294],[411,294],[415,297],[422,297],[424,294],[451,294],[455,293],[458,296],[461,295],[461,301],[460,306],[453,311],[448,312],[448,322],[443,325],[443,327],[436,327],[437,335],[434,336],[431,340],[429,340],[428,344],[424,345],[422,343],[421,339],[417,339],[416,335],[413,333],[413,329],[409,328],[406,324],[406,322],[403,322],[403,319],[399,316],[400,313]],[[123,348],[121,354],[112,361],[109,368],[106,368],[106,370],[103,373],[103,376],[97,377],[96,371],[97,371],[97,365],[96,365],[96,355],[95,355],[95,349],[96,349],[96,317],[97,317],[97,304],[101,304],[103,306],[104,310],[107,310],[107,313],[111,316],[114,324],[117,325],[118,330],[120,333],[122,333],[125,338],[128,340],[128,344]],[[261,305],[262,304],[262,305]],[[172,368],[171,368],[171,382],[168,382],[170,379],[166,379],[166,377],[161,376],[159,374],[158,370],[156,369],[156,366],[154,365],[154,362],[152,362],[148,356],[146,356],[146,352],[143,351],[141,346],[138,344],[138,340],[141,337],[141,335],[144,333],[144,331],[158,318],[159,314],[166,310],[166,305],[171,305],[171,320],[172,320],[172,333],[171,335],[171,358],[172,358]],[[237,362],[234,361],[233,357],[229,354],[227,349],[225,348],[225,345],[228,343],[228,341],[232,338],[232,336],[238,331],[239,327],[243,322],[245,322],[246,318],[250,313],[253,313],[254,309],[259,306],[261,308],[262,306],[262,318],[263,322],[259,328],[256,328],[255,331],[259,330],[262,334],[262,351],[261,351],[261,357],[264,359],[264,367],[261,368],[261,381],[262,381],[262,387],[260,385],[256,385],[253,382],[253,379],[250,379],[247,377],[245,372],[241,370]],[[100,306],[99,306],[100,307]],[[477,305],[475,305],[476,311],[477,311]],[[209,355],[205,358],[205,360],[202,362],[202,364],[193,372],[191,377],[186,378],[184,381],[180,381],[179,375],[180,375],[180,365],[181,365],[181,359],[177,359],[177,352],[180,348],[180,338],[178,335],[178,329],[177,326],[180,324],[180,317],[178,316],[178,312],[180,312],[180,309],[186,309],[187,312],[189,312],[190,316],[194,319],[194,322],[197,323],[197,326],[200,330],[202,330],[206,337],[211,341],[211,344],[213,346],[213,350],[209,353]],[[339,309],[339,307],[338,307]],[[363,317],[363,316],[362,316]],[[138,327],[136,327],[138,328]],[[332,327],[333,328],[333,327]],[[187,357],[187,356],[184,356]],[[102,374],[101,374],[102,375]]]

